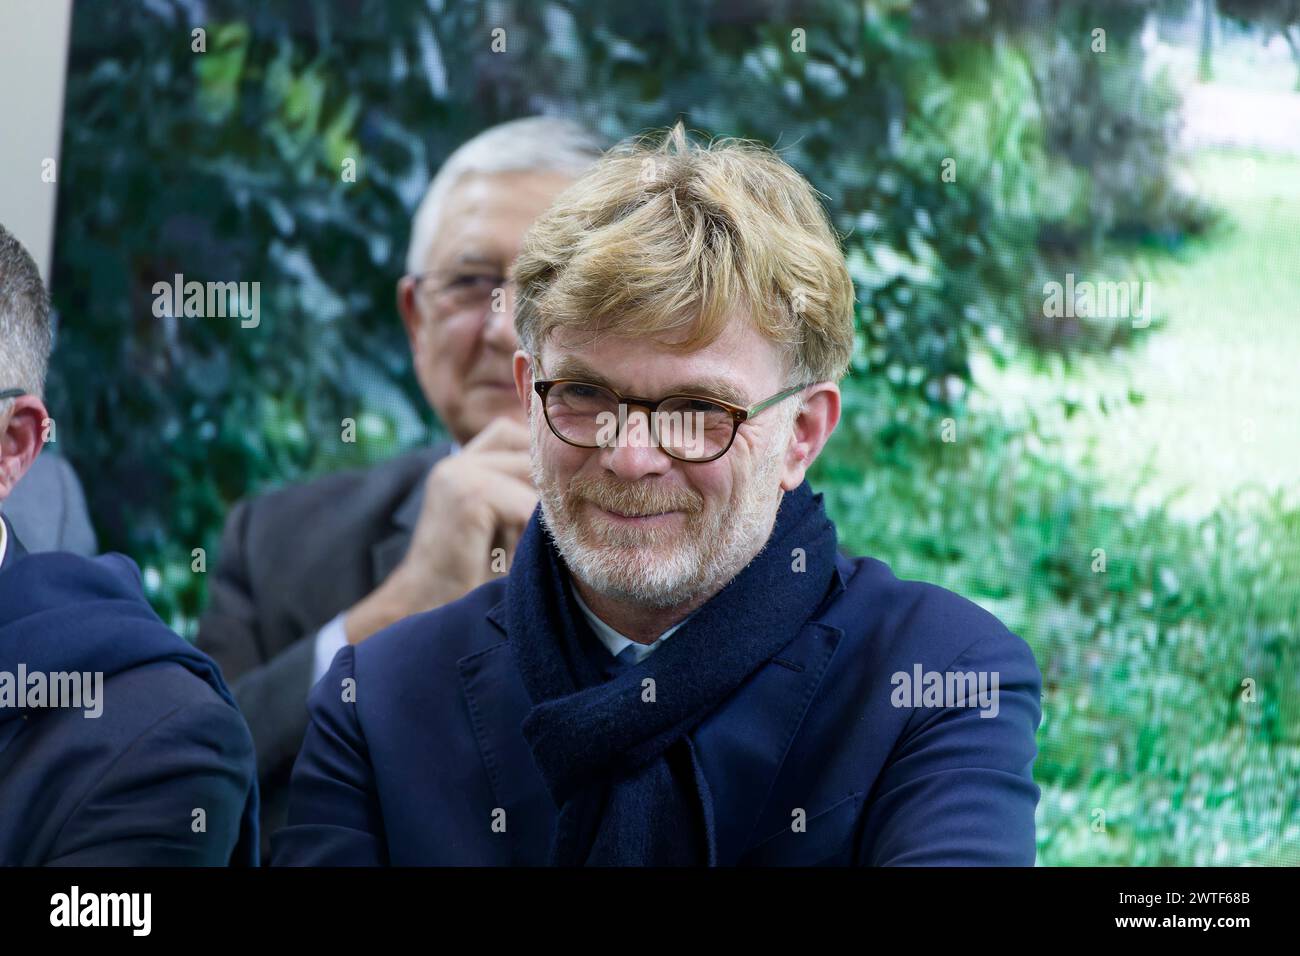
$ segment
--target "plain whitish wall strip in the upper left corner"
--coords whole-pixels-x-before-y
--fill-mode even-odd
[[[49,282],[72,0],[0,0],[0,222]]]

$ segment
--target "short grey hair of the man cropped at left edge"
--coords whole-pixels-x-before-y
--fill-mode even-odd
[[[44,394],[49,297],[27,250],[0,225],[0,389]],[[0,410],[9,402],[0,402]]]

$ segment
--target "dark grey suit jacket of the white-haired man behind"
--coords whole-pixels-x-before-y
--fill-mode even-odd
[[[220,666],[257,747],[263,858],[283,825],[307,730],[316,632],[406,555],[424,480],[450,445],[240,501],[226,519],[196,644]]]

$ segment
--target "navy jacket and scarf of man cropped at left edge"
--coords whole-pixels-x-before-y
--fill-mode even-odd
[[[199,654],[148,610],[130,562],[26,557],[10,533],[0,605],[0,671],[10,675],[18,665],[29,674],[94,671],[109,644],[116,663],[143,656],[104,674],[99,717],[0,713],[0,866],[255,862],[248,728],[213,685],[177,663]],[[91,606],[105,610],[82,610]]]

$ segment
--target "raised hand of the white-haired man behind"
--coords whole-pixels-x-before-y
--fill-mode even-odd
[[[495,419],[425,479],[424,505],[406,558],[343,619],[347,640],[455,601],[510,567],[537,507],[528,467],[528,427]],[[493,554],[497,568],[493,568]],[[499,561],[504,557],[504,561]]]

